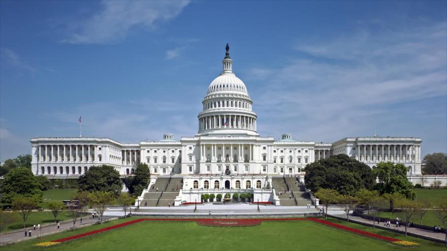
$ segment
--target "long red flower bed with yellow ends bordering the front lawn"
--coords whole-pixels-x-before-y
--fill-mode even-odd
[[[129,226],[129,225],[143,222],[143,221],[167,221],[167,222],[193,222],[193,221],[195,221],[195,222],[197,222],[198,225],[207,226],[207,227],[252,227],[252,226],[261,225],[261,223],[263,221],[312,221],[312,222],[324,224],[326,226],[333,227],[336,229],[348,231],[350,233],[355,233],[358,235],[362,235],[362,236],[366,236],[366,237],[370,237],[370,238],[374,238],[374,239],[378,239],[378,240],[388,241],[390,243],[400,245],[400,246],[405,246],[405,247],[419,246],[418,243],[414,243],[411,241],[404,241],[404,240],[399,240],[399,239],[395,239],[395,238],[390,238],[390,237],[366,232],[366,231],[355,229],[355,228],[346,227],[346,226],[343,226],[340,224],[336,224],[336,223],[332,223],[332,222],[329,222],[326,220],[321,220],[321,219],[316,219],[316,218],[267,218],[267,219],[150,219],[150,218],[146,219],[146,218],[142,218],[142,219],[137,219],[137,220],[113,225],[113,226],[110,226],[107,228],[102,228],[102,229],[86,232],[83,234],[78,234],[78,235],[73,235],[73,236],[69,236],[66,238],[60,238],[57,240],[51,240],[51,241],[37,243],[37,244],[35,244],[35,246],[49,247],[49,246],[56,245],[58,243],[63,243],[63,242],[71,241],[71,240],[80,239],[80,238],[83,238],[86,236],[106,232],[106,231],[109,231],[112,229]]]

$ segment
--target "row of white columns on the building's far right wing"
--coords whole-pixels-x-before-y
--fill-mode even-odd
[[[359,144],[357,145],[356,159],[364,162],[419,162],[421,161],[421,146],[405,144]]]

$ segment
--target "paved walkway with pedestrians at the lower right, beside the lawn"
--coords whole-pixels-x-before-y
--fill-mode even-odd
[[[346,214],[334,214],[331,213],[331,211],[328,212],[328,214],[330,216],[335,216],[335,217],[340,217],[340,218],[344,218],[346,219]],[[349,222],[357,222],[357,223],[363,223],[363,224],[368,224],[372,227],[373,225],[373,221],[372,220],[367,220],[367,219],[363,219],[361,217],[357,217],[357,216],[352,216],[349,215]],[[396,225],[390,225],[390,227],[384,227],[384,223],[380,222],[380,224],[375,224],[376,228],[380,228],[380,229],[386,229],[389,231],[395,231],[395,232],[399,232],[403,235],[405,235],[405,226],[400,226],[400,227],[396,227]],[[424,229],[420,229],[420,228],[409,228],[407,227],[407,233],[408,235],[412,235],[412,236],[417,236],[417,237],[421,237],[421,238],[427,238],[427,239],[436,239],[439,240],[440,243],[444,243],[445,241],[445,233],[435,233],[433,231],[429,231],[429,230],[424,230]],[[437,242],[439,242],[437,241]]]

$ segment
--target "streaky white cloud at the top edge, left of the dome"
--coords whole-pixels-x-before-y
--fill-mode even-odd
[[[175,18],[188,4],[188,0],[103,1],[102,10],[79,25],[74,25],[75,31],[62,42],[116,43],[124,39],[133,28],[153,29],[157,23]]]

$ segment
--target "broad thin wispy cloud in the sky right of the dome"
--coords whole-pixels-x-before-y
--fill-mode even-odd
[[[395,116],[396,104],[447,96],[445,44],[446,22],[299,43],[294,49],[305,56],[247,71],[261,83],[250,90],[254,100],[262,100],[254,107],[270,119],[259,128],[276,133],[280,126],[306,138],[333,140],[387,123],[382,120]],[[278,125],[277,118],[289,122]]]

